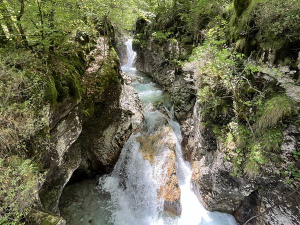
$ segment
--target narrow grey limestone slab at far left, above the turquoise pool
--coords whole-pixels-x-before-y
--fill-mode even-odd
[[[73,143],[81,129],[82,113],[75,107],[50,132],[52,147],[43,155],[43,165],[48,172],[39,196],[44,208],[52,213],[59,214],[58,201],[62,189],[79,166],[80,149],[76,149]]]

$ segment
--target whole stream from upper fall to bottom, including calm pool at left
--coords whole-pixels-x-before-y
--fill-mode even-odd
[[[232,215],[207,211],[193,192],[191,165],[182,155],[180,125],[168,94],[133,67],[136,54],[131,40],[126,46],[128,61],[122,70],[132,79],[130,85],[143,103],[144,123],[124,144],[110,174],[65,187],[61,214],[72,225],[236,224]],[[146,143],[150,145],[145,153]],[[158,197],[168,176],[166,164],[172,151],[180,188],[180,216],[163,210],[164,199]]]

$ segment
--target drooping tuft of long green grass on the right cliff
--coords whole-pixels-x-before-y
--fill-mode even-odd
[[[255,123],[255,130],[262,133],[266,128],[271,128],[286,116],[296,111],[295,103],[285,94],[278,94],[265,103],[260,117]]]

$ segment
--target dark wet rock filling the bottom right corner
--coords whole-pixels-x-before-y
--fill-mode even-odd
[[[249,194],[234,216],[240,224],[290,224],[300,221],[300,195],[283,183],[268,184]],[[255,217],[256,216],[256,217]]]

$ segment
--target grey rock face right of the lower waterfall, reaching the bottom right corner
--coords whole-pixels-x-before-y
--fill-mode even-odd
[[[196,103],[193,109],[192,135],[188,139],[187,148],[192,160],[192,181],[206,208],[211,211],[234,212],[237,220],[243,224],[251,216],[263,212],[292,193],[288,185],[283,183],[280,170],[286,169],[284,166],[292,160],[292,151],[299,147],[299,130],[295,126],[290,125],[283,133],[281,169],[276,169],[273,165],[265,168],[256,177],[235,177],[230,175],[233,166],[224,159],[225,153],[219,148],[212,132],[202,125],[200,112],[200,105]],[[268,192],[270,190],[276,198]],[[293,205],[292,207],[279,205],[277,209],[269,209],[267,214],[257,218],[260,222],[253,224],[281,224],[279,221],[284,221],[286,214],[292,215],[290,223],[282,224],[296,224],[292,221],[298,217],[300,207],[292,201],[290,198],[285,202],[287,205]]]

